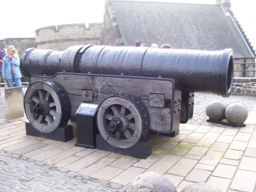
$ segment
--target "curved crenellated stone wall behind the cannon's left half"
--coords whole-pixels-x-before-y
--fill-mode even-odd
[[[69,24],[35,30],[35,42],[39,49],[63,51],[74,45],[100,45],[101,23]]]

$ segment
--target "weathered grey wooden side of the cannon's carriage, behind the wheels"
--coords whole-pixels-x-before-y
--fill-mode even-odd
[[[32,77],[31,82],[44,79],[46,78]],[[60,83],[68,93],[72,105],[71,117],[76,117],[75,113],[81,102],[101,104],[114,94],[129,93],[141,99],[150,111],[151,130],[169,132],[171,129],[169,113],[175,93],[173,81],[76,74],[58,74],[51,80]],[[178,93],[180,98],[180,92]]]

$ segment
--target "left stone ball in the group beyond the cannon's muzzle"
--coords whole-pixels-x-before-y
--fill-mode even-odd
[[[211,120],[221,121],[225,119],[225,104],[222,101],[211,101],[206,106],[206,115]]]

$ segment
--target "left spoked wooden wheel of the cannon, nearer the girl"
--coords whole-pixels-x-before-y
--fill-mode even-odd
[[[70,99],[59,83],[51,80],[37,81],[26,91],[25,112],[36,130],[51,133],[68,123]]]

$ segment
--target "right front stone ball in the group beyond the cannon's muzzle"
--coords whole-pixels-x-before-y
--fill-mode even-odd
[[[225,117],[229,123],[241,124],[247,119],[248,112],[243,104],[234,102],[227,106]]]

